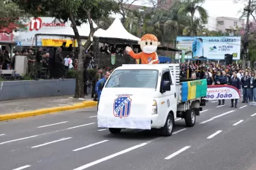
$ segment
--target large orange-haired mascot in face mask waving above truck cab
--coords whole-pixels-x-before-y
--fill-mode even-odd
[[[157,36],[146,34],[141,37],[140,42],[138,43],[140,49],[143,51],[141,53],[135,54],[131,47],[126,47],[125,49],[132,58],[141,59],[142,64],[159,63],[156,52],[160,42],[158,42]]]

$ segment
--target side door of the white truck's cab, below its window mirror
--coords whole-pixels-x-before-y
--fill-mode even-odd
[[[163,82],[170,82],[170,89],[168,90],[163,90]],[[165,69],[162,71],[162,80],[161,80],[161,87],[160,87],[160,92],[162,93],[162,98],[161,100],[161,107],[162,107],[162,112],[170,112],[173,111],[174,113],[174,118],[176,118],[176,110],[177,110],[177,99],[176,99],[176,85],[175,85],[175,80],[172,80],[171,75],[170,75],[170,69]]]

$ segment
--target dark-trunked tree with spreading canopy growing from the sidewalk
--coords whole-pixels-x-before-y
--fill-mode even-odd
[[[118,4],[114,0],[13,0],[21,9],[29,12],[34,17],[48,14],[56,20],[66,23],[70,20],[75,38],[78,41],[78,72],[76,77],[75,98],[83,98],[83,52],[94,41],[94,33],[99,29],[94,28],[93,20],[98,20],[111,12],[118,12]],[[77,26],[89,23],[90,33],[86,44],[82,39]]]

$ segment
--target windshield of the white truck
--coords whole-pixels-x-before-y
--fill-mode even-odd
[[[158,70],[116,70],[105,88],[157,88]]]

